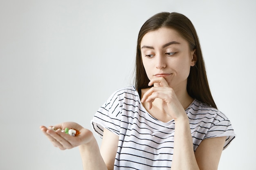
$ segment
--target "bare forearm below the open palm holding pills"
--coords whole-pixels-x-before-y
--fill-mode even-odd
[[[83,170],[108,170],[94,137],[88,144],[79,146],[79,151],[83,162]]]

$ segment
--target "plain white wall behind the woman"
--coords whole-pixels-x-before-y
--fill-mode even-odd
[[[254,0],[1,0],[0,169],[81,170],[78,148],[54,148],[39,126],[91,130],[99,106],[132,84],[137,34],[161,11],[193,22],[213,97],[236,131],[219,169],[254,169],[255,8]]]

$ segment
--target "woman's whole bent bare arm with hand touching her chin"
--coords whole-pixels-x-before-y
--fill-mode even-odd
[[[144,93],[141,102],[149,102],[151,107],[155,99],[162,99],[162,110],[166,110],[165,113],[175,120],[174,151],[171,169],[217,170],[225,137],[203,140],[194,152],[189,118],[175,92],[162,77],[151,79],[148,85],[151,86],[153,84],[154,87]],[[161,107],[160,104],[158,106]]]

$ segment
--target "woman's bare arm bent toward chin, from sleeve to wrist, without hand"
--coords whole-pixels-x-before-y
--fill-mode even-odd
[[[225,137],[205,139],[193,150],[188,119],[175,121],[172,170],[217,170]]]

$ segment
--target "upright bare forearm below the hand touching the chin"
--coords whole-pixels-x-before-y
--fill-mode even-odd
[[[172,170],[199,170],[189,126],[189,119],[175,121]]]

